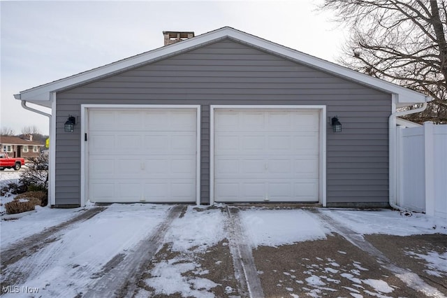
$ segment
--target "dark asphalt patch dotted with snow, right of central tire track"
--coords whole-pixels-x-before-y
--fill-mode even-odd
[[[420,297],[338,234],[278,247],[258,246],[253,255],[265,297]]]

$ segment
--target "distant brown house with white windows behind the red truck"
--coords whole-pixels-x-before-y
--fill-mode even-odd
[[[33,136],[0,136],[1,152],[8,152],[9,157],[37,157],[43,145],[33,141]]]

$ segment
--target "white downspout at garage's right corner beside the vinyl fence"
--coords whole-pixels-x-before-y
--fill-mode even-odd
[[[395,95],[393,95],[393,111],[395,111]],[[423,106],[420,108],[415,108],[414,110],[395,112],[390,115],[388,118],[388,137],[389,137],[389,163],[390,163],[390,172],[389,172],[389,196],[388,203],[392,208],[395,208],[400,211],[404,211],[404,208],[397,206],[397,140],[396,140],[396,118],[404,115],[411,115],[425,111],[427,108],[427,102],[430,101],[430,97],[425,97],[425,102]]]

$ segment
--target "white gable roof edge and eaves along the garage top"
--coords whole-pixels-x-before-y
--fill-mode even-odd
[[[427,97],[425,96],[425,94],[422,94],[420,92],[416,92],[408,88],[389,83],[379,78],[367,76],[364,73],[347,69],[344,66],[340,66],[338,64],[328,62],[311,55],[307,55],[303,52],[299,52],[298,50],[287,48],[284,45],[279,45],[277,43],[273,43],[272,41],[267,41],[263,38],[247,34],[243,31],[239,31],[231,27],[223,27],[221,29],[189,38],[179,43],[166,45],[149,52],[144,52],[140,55],[135,55],[133,57],[122,59],[117,62],[98,67],[96,69],[91,69],[89,71],[78,73],[74,76],[69,76],[68,78],[62,78],[45,85],[37,86],[29,90],[24,90],[20,92],[20,94],[15,94],[14,97],[15,99],[30,101],[33,104],[38,104],[50,108],[52,102],[52,93],[54,92],[60,92],[77,85],[89,83],[92,80],[97,80],[105,76],[111,76],[114,73],[120,73],[128,69],[133,69],[144,64],[158,61],[160,59],[165,59],[166,57],[177,55],[181,52],[192,50],[193,48],[199,48],[225,38],[233,39],[234,41],[237,41],[239,43],[244,43],[260,50],[270,52],[273,55],[279,55],[285,57],[286,59],[291,59],[292,61],[298,62],[300,64],[305,64],[314,69],[320,69],[321,71],[332,73],[335,76],[346,78],[347,80],[352,80],[356,83],[382,90],[383,92],[395,94],[397,106],[408,106],[411,104],[423,103],[431,100],[430,97]]]

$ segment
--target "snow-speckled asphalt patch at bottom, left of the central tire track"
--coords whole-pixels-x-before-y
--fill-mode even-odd
[[[172,250],[172,246],[173,243],[165,243],[156,253],[152,264],[140,278],[140,289],[135,297],[240,297],[228,239],[200,253],[177,252]],[[163,264],[169,264],[175,276],[162,276],[157,267]],[[152,281],[157,279],[166,282],[167,289],[152,288]]]

